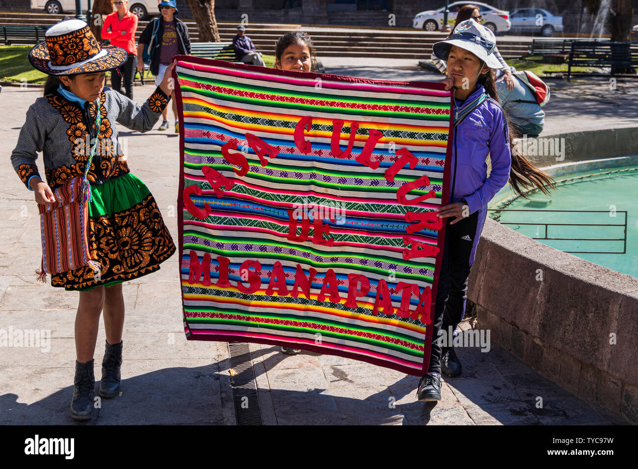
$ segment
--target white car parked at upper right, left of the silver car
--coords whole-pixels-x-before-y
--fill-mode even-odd
[[[466,5],[470,2],[454,2],[450,3],[450,13],[447,15],[448,24],[450,27],[454,27],[456,21],[457,8]],[[503,33],[510,29],[510,12],[505,10],[499,10],[493,6],[489,6],[487,3],[473,2],[479,7],[479,13],[481,15],[481,23],[483,26],[489,27],[494,33]],[[445,6],[442,6],[438,10],[426,10],[417,13],[412,21],[412,27],[416,29],[425,29],[426,31],[438,31],[443,26],[443,14],[445,12]]]

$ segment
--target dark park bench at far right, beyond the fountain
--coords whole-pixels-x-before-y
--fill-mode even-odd
[[[634,68],[638,66],[638,44],[611,41],[574,41],[572,42],[567,62],[568,81],[576,73],[586,73],[572,72],[573,66],[611,67],[611,73],[602,75],[618,75],[614,74],[614,68]],[[625,75],[623,74],[623,76]],[[626,76],[638,77],[638,75]]]

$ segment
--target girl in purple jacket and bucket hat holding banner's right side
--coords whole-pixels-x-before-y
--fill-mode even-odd
[[[441,344],[439,331],[447,332],[450,327],[456,331],[463,320],[468,277],[488,202],[508,181],[523,197],[524,191],[533,187],[544,193],[549,193],[547,186],[554,187],[551,176],[514,149],[512,130],[494,81],[494,69],[501,68],[495,48],[494,33],[471,19],[461,22],[448,40],[433,45],[434,54],[447,61],[445,89],[454,89],[454,131],[449,204],[437,209],[447,225],[430,362],[417,389],[420,401],[441,399],[441,371],[446,376],[461,375],[452,338]]]

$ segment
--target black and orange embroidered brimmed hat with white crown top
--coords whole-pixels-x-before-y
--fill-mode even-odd
[[[114,45],[101,46],[82,20],[64,20],[45,33],[45,41],[29,52],[34,68],[49,75],[95,73],[118,67],[128,52]]]

